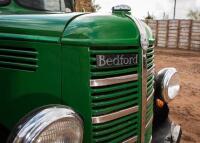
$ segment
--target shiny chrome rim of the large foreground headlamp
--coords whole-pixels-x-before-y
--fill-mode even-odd
[[[47,127],[61,119],[67,118],[76,119],[83,133],[83,121],[72,108],[64,105],[48,105],[35,109],[22,118],[12,131],[8,143],[15,143],[18,139],[22,139],[24,143],[31,143]]]

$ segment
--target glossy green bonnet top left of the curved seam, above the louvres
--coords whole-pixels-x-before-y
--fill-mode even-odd
[[[65,26],[80,13],[0,15],[0,38],[60,43]]]

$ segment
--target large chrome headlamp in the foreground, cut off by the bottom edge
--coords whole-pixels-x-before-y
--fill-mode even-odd
[[[13,134],[13,143],[81,143],[83,123],[72,109],[52,106],[25,118]]]

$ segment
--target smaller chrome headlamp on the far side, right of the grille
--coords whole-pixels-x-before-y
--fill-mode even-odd
[[[162,98],[166,103],[174,99],[180,91],[179,76],[175,68],[164,68],[158,72],[157,81]]]

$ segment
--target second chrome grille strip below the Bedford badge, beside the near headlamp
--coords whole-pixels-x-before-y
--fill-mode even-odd
[[[121,118],[123,116],[127,116],[132,113],[138,112],[139,107],[134,106],[128,109],[120,110],[118,112],[102,115],[102,116],[97,116],[97,117],[92,117],[92,123],[93,124],[100,124],[100,123],[105,123],[108,121],[112,121],[118,118]]]

